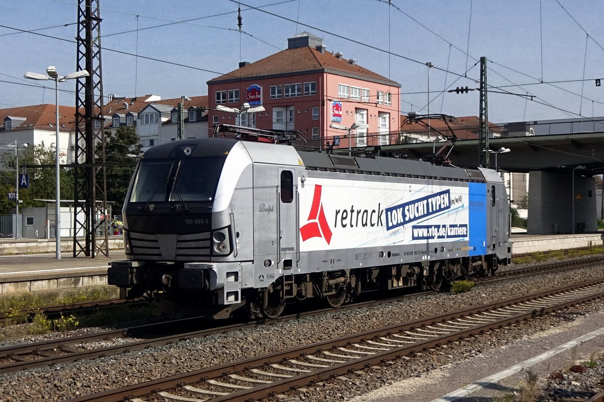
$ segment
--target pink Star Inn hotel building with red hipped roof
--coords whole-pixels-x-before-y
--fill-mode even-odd
[[[355,125],[351,146],[388,144],[400,125],[399,88],[304,32],[289,38],[286,50],[208,81],[208,122],[295,130],[313,146],[337,136],[339,148],[349,146],[348,129]],[[265,110],[245,113],[246,102]]]

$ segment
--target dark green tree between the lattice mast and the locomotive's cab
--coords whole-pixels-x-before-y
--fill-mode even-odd
[[[114,202],[111,204],[114,213],[121,212],[135,168],[136,160],[127,155],[138,155],[141,148],[143,145],[133,126],[118,127],[115,132],[105,131],[105,162],[108,164],[107,201]],[[110,166],[112,163],[115,163],[115,166]]]

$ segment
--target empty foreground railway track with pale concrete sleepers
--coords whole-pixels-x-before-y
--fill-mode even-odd
[[[604,278],[84,395],[71,402],[155,401],[158,397],[260,400],[602,297]]]

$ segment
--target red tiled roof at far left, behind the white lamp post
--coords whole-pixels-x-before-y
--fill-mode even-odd
[[[24,122],[18,127],[13,127],[10,131],[33,129],[56,130],[56,128],[54,128],[56,123],[56,105],[43,104],[0,109],[0,123],[4,124],[6,116],[25,118]],[[75,127],[76,108],[73,106],[59,105],[59,130],[73,131]]]

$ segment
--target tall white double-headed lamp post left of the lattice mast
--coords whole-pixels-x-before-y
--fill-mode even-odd
[[[46,74],[37,74],[36,72],[26,72],[24,77],[29,78],[30,80],[39,80],[39,81],[54,81],[54,103],[56,107],[56,139],[55,139],[55,147],[56,147],[56,163],[55,163],[55,177],[57,182],[57,190],[55,193],[56,198],[56,206],[55,206],[55,220],[54,220],[54,230],[56,237],[56,259],[60,260],[61,258],[61,191],[60,191],[60,177],[59,177],[59,83],[65,82],[65,80],[77,80],[78,78],[89,77],[89,73],[86,70],[80,70],[76,72],[72,72],[67,75],[59,75],[57,72],[57,68],[55,66],[48,66],[46,69]]]

